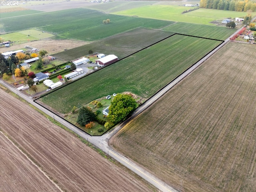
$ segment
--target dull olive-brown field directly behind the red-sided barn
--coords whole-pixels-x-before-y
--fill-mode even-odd
[[[54,54],[54,57],[61,58],[65,61],[71,61],[86,56],[89,50],[93,50],[94,52],[104,53],[106,55],[115,54],[121,59],[167,38],[171,34],[173,33],[161,30],[136,28],[91,44],[59,52]]]

